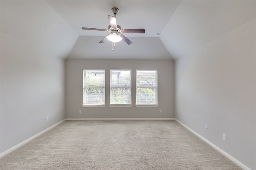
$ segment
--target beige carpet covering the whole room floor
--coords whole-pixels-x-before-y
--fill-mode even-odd
[[[240,170],[176,121],[64,121],[1,170]]]

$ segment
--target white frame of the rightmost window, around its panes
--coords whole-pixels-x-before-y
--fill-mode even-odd
[[[155,86],[138,87],[138,71],[155,71]],[[155,88],[155,103],[154,104],[138,104],[138,88]],[[136,107],[158,107],[158,70],[157,69],[136,69]]]

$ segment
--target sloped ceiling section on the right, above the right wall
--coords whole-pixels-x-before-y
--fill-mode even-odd
[[[174,59],[232,31],[256,17],[256,1],[182,1],[160,34]]]

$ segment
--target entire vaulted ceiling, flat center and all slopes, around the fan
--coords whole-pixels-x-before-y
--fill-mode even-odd
[[[181,0],[34,0],[0,1],[1,33],[50,55],[66,59],[171,60],[256,18],[256,1]],[[108,32],[111,8],[119,8],[122,29],[133,43],[99,43]],[[155,34],[159,33],[159,37]]]

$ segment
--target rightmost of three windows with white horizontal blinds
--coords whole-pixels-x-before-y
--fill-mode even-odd
[[[136,105],[157,106],[157,70],[136,70]]]

